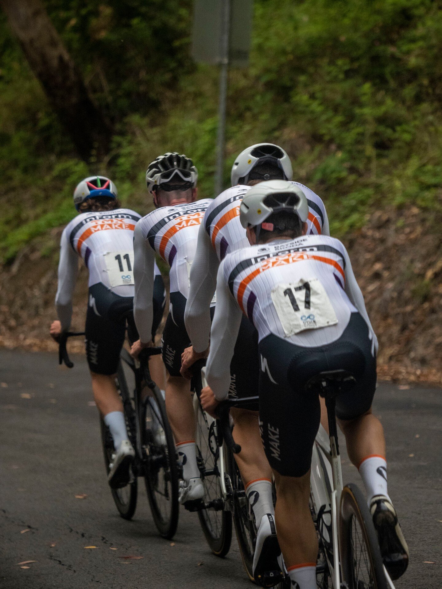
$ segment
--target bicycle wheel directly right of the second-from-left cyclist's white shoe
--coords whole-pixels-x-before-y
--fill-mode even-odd
[[[196,456],[204,485],[203,501],[221,500],[222,490],[219,482],[217,460],[219,446],[217,444],[216,422],[203,411],[195,398],[196,412]],[[210,472],[210,474],[206,474]],[[225,509],[200,509],[198,518],[204,537],[213,554],[222,558],[230,550],[232,543],[232,514]]]

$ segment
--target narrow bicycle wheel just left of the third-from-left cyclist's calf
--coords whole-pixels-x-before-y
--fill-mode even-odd
[[[256,544],[255,522],[249,517],[249,502],[246,496],[241,475],[235,458],[228,449],[226,450],[226,470],[229,475],[232,502],[233,502],[233,524],[235,525],[236,539],[238,540],[239,552],[242,564],[250,579],[253,581],[253,555]]]

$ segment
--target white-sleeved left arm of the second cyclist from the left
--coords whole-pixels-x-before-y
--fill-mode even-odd
[[[138,223],[134,231],[134,318],[141,345],[152,339],[155,253]]]

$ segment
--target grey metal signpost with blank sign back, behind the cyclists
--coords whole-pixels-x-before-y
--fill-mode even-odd
[[[215,196],[223,190],[229,65],[246,67],[252,34],[253,0],[194,0],[192,55],[220,65]]]

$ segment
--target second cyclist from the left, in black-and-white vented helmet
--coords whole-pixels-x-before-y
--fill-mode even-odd
[[[180,375],[181,355],[189,346],[184,326],[184,307],[189,293],[199,225],[212,199],[196,201],[198,173],[186,155],[166,153],[154,160],[146,172],[147,189],[156,211],[143,217],[134,233],[134,316],[140,340],[131,353],[151,345],[152,281],[155,254],[170,266],[170,307],[163,332],[163,361],[166,366],[166,409],[183,467],[179,501],[199,501],[204,495],[196,462],[194,413],[190,385]]]

